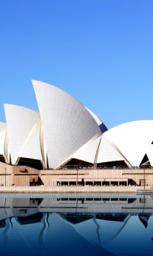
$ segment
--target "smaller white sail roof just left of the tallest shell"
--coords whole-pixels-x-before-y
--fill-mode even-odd
[[[18,157],[42,159],[40,150],[40,113],[24,107],[4,104],[11,163]]]

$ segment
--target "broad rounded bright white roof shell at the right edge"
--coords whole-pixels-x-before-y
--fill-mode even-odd
[[[139,166],[145,154],[153,163],[153,121],[142,120],[119,125],[103,136],[132,166]]]

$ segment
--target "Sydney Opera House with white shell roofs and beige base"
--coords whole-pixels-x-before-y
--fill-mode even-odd
[[[98,116],[68,93],[47,83],[32,82],[39,113],[4,104],[1,185],[153,184],[153,120],[108,130]],[[144,166],[148,172],[145,178]]]

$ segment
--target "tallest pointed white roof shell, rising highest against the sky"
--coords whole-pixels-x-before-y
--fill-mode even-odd
[[[56,169],[101,132],[87,109],[68,93],[33,81],[47,146],[48,164]]]

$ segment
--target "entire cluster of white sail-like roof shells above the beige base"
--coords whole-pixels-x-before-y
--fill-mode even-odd
[[[24,157],[40,161],[42,168],[59,169],[71,159],[95,167],[120,161],[140,166],[147,159],[153,166],[152,120],[107,131],[98,116],[68,93],[40,81],[33,81],[33,86],[40,113],[4,104],[0,155],[6,163],[18,164]]]

